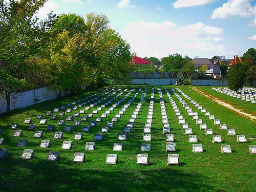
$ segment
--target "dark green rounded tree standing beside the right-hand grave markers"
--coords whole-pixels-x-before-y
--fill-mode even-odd
[[[246,69],[241,62],[230,66],[228,69],[228,88],[238,92],[243,88],[246,78]]]

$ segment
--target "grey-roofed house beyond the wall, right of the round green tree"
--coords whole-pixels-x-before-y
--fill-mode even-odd
[[[207,66],[207,70],[205,73],[211,74],[211,75],[220,75],[220,62],[213,62],[215,61],[216,56],[212,59],[208,58],[195,58],[192,60],[194,62],[194,65],[197,69],[201,68],[202,66]]]

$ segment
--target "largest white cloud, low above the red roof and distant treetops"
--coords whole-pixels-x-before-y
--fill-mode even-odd
[[[196,55],[211,58],[213,55],[229,53],[226,46],[216,44],[212,40],[222,33],[223,29],[202,23],[177,27],[169,21],[160,24],[135,21],[131,22],[121,35],[141,57],[162,58],[168,54],[179,53],[191,58]]]

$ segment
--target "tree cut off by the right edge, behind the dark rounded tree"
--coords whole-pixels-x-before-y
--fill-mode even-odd
[[[243,54],[242,63],[246,70],[246,79],[252,83],[256,78],[256,49],[250,48]]]

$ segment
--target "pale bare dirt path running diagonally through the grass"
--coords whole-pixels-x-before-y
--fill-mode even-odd
[[[239,115],[241,115],[241,116],[243,116],[245,118],[249,118],[252,121],[256,121],[256,117],[254,115],[252,115],[250,113],[245,113],[245,112],[243,112],[242,109],[235,108],[233,105],[231,105],[231,104],[229,104],[229,103],[227,103],[225,101],[221,101],[218,98],[216,98],[216,97],[214,97],[212,95],[209,95],[208,93],[206,93],[204,91],[201,91],[201,90],[199,90],[199,89],[197,89],[195,87],[193,87],[192,89],[194,91],[196,91],[197,93],[200,93],[201,95],[209,98],[211,101],[214,101],[214,102],[216,102],[216,103],[218,103],[218,104],[220,104],[222,106],[225,106],[225,108],[228,108],[229,110],[231,110],[231,111],[233,111],[233,112],[235,112],[235,113],[237,113],[237,114],[239,114]]]

